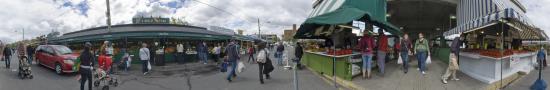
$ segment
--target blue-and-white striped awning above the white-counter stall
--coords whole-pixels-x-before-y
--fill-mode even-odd
[[[461,0],[458,6],[458,26],[444,32],[444,36],[467,33],[498,23],[505,23],[518,30],[521,39],[541,39],[544,33],[530,23],[521,6],[503,0]],[[540,31],[540,30],[539,30]]]

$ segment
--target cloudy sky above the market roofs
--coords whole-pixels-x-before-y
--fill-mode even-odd
[[[196,26],[222,26],[281,34],[302,23],[313,0],[110,0],[113,24],[136,16],[183,18]],[[550,30],[550,0],[520,0],[535,25]],[[216,8],[213,8],[216,7]],[[221,11],[219,9],[223,9]],[[105,0],[0,0],[0,40],[14,42],[52,31],[68,33],[106,25]]]

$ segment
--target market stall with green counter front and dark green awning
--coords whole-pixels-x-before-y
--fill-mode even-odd
[[[352,50],[357,36],[352,34],[352,21],[374,25],[392,35],[402,32],[386,21],[386,0],[319,0],[300,26],[295,39],[315,39],[308,43],[303,64],[321,74],[351,80],[360,63],[360,55]],[[336,84],[336,83],[335,83]]]

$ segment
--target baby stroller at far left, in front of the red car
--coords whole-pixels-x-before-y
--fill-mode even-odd
[[[29,78],[32,79],[33,75],[31,73],[31,65],[27,62],[27,56],[19,56],[19,70],[18,76],[21,79]]]

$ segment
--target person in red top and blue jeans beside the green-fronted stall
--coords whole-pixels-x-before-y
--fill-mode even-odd
[[[371,35],[369,35],[369,32],[365,31],[363,32],[363,37],[361,40],[359,40],[358,48],[361,51],[361,56],[363,59],[363,79],[370,78],[371,74],[371,63],[372,63],[372,56],[373,56],[373,46],[374,46],[374,39]]]

